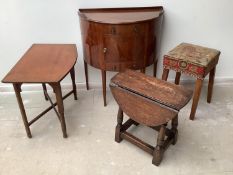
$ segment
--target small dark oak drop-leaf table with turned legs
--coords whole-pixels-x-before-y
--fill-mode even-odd
[[[191,99],[192,92],[132,70],[113,77],[110,88],[119,105],[115,141],[128,140],[152,154],[152,163],[159,165],[164,151],[177,141],[178,112]],[[130,117],[124,124],[123,112]],[[133,124],[159,131],[155,148],[126,131]]]

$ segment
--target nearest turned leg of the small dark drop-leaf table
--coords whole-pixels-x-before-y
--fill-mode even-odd
[[[166,130],[165,126],[162,125],[159,130],[159,134],[157,138],[157,145],[153,152],[152,163],[156,166],[159,166],[163,158],[163,153],[164,153],[163,144],[164,144],[164,138],[165,138],[165,130]]]

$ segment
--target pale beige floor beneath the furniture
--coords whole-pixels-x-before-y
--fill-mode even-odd
[[[22,96],[29,118],[49,106],[42,92]],[[78,90],[78,101],[73,96],[64,101],[67,139],[54,111],[31,126],[28,139],[14,93],[1,93],[0,175],[233,175],[232,85],[215,86],[211,104],[204,87],[195,121],[188,119],[191,103],[180,111],[178,142],[159,167],[136,146],[114,141],[118,106],[110,91],[107,103],[104,107],[100,90]],[[152,129],[130,130],[155,145]]]

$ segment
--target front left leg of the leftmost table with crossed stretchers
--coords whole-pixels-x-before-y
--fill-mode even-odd
[[[22,115],[24,127],[25,127],[25,130],[27,132],[27,136],[28,136],[28,138],[32,138],[32,134],[31,134],[31,131],[30,131],[30,128],[29,128],[28,120],[27,120],[27,115],[26,115],[24,105],[23,105],[23,101],[22,101],[22,97],[21,97],[21,94],[20,94],[21,84],[13,84],[13,86],[14,86],[15,95],[16,95],[16,98],[17,98],[17,101],[18,101],[19,109],[20,109],[20,112],[21,112],[21,115]]]

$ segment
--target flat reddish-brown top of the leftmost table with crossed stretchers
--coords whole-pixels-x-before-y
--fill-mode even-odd
[[[75,44],[33,44],[2,82],[59,82],[75,65],[77,56]]]

